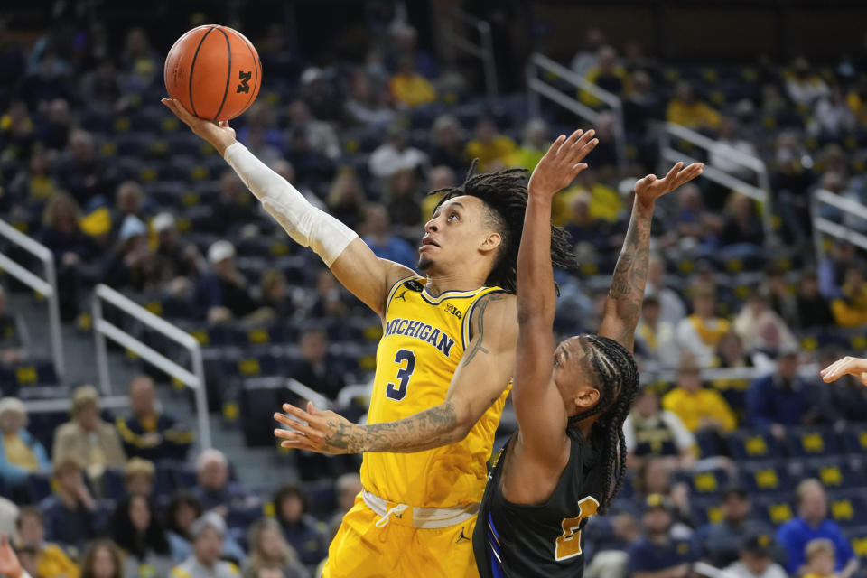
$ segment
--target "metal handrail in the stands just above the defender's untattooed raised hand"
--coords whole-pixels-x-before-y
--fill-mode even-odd
[[[539,117],[541,114],[539,97],[553,100],[561,107],[591,123],[595,123],[602,114],[599,110],[588,107],[573,95],[566,94],[540,79],[539,70],[553,74],[576,89],[590,93],[611,108],[611,114],[614,115],[614,147],[617,154],[617,166],[621,172],[625,171],[628,163],[626,158],[626,128],[623,124],[623,104],[620,98],[608,90],[601,89],[580,74],[575,74],[573,70],[567,69],[559,62],[552,61],[544,54],[536,52],[530,56],[530,61],[527,63],[527,100],[531,117]]]

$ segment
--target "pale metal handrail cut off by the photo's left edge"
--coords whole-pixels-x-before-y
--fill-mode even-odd
[[[51,331],[51,358],[54,361],[54,371],[63,378],[66,373],[66,363],[63,358],[63,333],[61,331],[61,305],[57,293],[57,273],[54,268],[54,254],[51,249],[42,245],[32,237],[24,235],[17,228],[0,219],[0,235],[23,248],[25,251],[42,261],[44,277],[34,275],[9,256],[0,253],[0,267],[14,276],[18,281],[29,286],[38,294],[44,295],[48,302],[48,322]]]

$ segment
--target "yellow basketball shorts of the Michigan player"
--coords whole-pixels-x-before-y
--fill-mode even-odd
[[[356,497],[328,549],[322,578],[479,578],[472,554],[476,518],[455,526],[421,529],[379,516]]]

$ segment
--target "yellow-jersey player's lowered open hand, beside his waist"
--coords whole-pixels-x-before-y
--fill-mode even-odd
[[[362,427],[353,424],[342,415],[332,411],[319,411],[313,407],[313,402],[307,403],[307,411],[292,404],[284,404],[283,411],[288,415],[280,413],[274,415],[276,421],[290,428],[274,430],[275,437],[283,440],[280,443],[281,447],[318,453],[363,451],[359,447]],[[293,419],[290,415],[297,419]]]

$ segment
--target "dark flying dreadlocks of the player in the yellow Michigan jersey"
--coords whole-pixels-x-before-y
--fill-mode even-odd
[[[524,213],[527,211],[527,171],[507,169],[499,172],[473,174],[479,159],[473,160],[463,184],[458,187],[437,189],[429,194],[443,192],[446,200],[462,195],[476,197],[486,209],[485,219],[490,228],[502,238],[494,268],[485,284],[497,285],[509,293],[515,293],[517,285],[517,250],[524,231]],[[557,268],[575,272],[578,263],[573,256],[569,234],[561,227],[551,226],[551,264]]]

